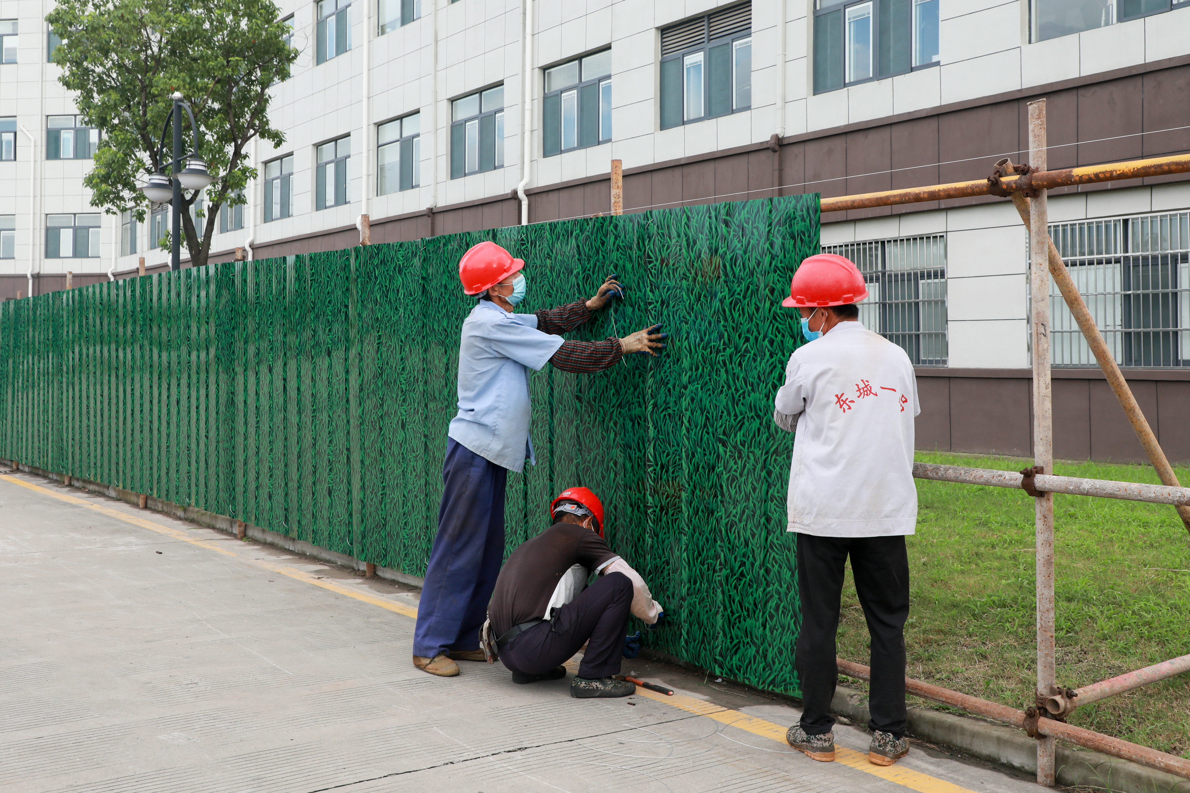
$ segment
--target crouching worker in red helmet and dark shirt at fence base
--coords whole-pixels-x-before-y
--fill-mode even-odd
[[[571,487],[550,505],[553,525],[513,551],[500,570],[488,607],[484,644],[496,645],[513,682],[559,680],[560,666],[585,643],[570,695],[628,697],[616,680],[628,614],[653,626],[660,605],[627,562],[603,539],[603,505],[585,487]],[[591,586],[591,573],[600,579]],[[639,638],[639,637],[638,637]]]

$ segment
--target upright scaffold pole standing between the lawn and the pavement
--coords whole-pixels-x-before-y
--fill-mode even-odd
[[[1046,170],[1045,100],[1029,102],[1029,164]],[[1029,283],[1033,308],[1033,464],[1053,473],[1050,388],[1050,219],[1046,191],[1029,201]],[[1038,703],[1057,683],[1053,626],[1053,494],[1033,499],[1036,517]],[[1054,738],[1038,739],[1038,785],[1054,782]]]

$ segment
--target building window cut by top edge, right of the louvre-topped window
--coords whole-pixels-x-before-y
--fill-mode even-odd
[[[931,67],[939,0],[816,0],[814,93]]]

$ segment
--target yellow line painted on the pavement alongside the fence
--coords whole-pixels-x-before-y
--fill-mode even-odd
[[[292,567],[269,564],[268,562],[262,562],[261,560],[250,560],[236,554],[234,551],[226,550],[219,545],[206,542],[202,539],[195,539],[189,537],[183,531],[178,531],[171,526],[167,526],[159,523],[154,523],[152,520],[145,520],[144,518],[138,518],[136,516],[120,512],[119,510],[113,510],[108,506],[101,504],[94,504],[73,495],[65,495],[64,493],[55,493],[54,491],[33,485],[32,482],[26,482],[17,479],[15,476],[0,476],[0,481],[12,482],[13,485],[19,485],[20,487],[29,488],[36,493],[44,493],[61,501],[67,501],[68,504],[75,504],[79,506],[84,506],[89,510],[95,510],[111,518],[118,520],[124,520],[125,523],[131,523],[134,526],[140,526],[142,529],[149,529],[150,531],[156,531],[158,533],[165,535],[168,537],[174,537],[182,542],[190,543],[192,545],[198,545],[200,548],[206,548],[208,550],[218,551],[226,556],[233,556],[242,562],[248,562],[256,567],[264,568],[270,573],[278,573],[281,575],[289,576],[296,581],[303,581],[306,583],[313,583],[315,587],[322,587],[324,589],[330,589],[336,594],[342,594],[347,598],[355,598],[356,600],[362,600],[363,602],[370,604],[372,606],[380,606],[381,608],[387,608],[388,611],[396,612],[411,619],[418,618],[418,610],[413,606],[407,606],[405,604],[394,602],[384,598],[377,598],[364,592],[356,592],[350,587],[344,587],[338,583],[332,583],[322,579],[314,577],[308,573],[294,569]],[[571,660],[566,663],[566,667],[571,672],[577,670],[577,663]],[[782,745],[789,745],[785,743],[785,728],[779,724],[774,724],[772,722],[765,722],[764,719],[758,719],[754,716],[749,716],[739,711],[733,711],[728,707],[722,707],[713,703],[707,703],[695,697],[687,697],[684,694],[658,694],[657,692],[649,691],[647,688],[641,688],[637,686],[637,695],[646,697],[649,699],[663,703],[671,707],[676,707],[688,713],[694,713],[696,716],[704,716],[707,718],[714,719],[722,724],[728,724],[733,728],[744,730],[745,732],[751,732],[752,735],[760,736],[762,738],[769,738],[770,741],[776,741]],[[917,791],[919,793],[973,793],[965,787],[959,787],[945,780],[937,779],[928,774],[922,774],[921,772],[915,772],[903,766],[876,766],[868,760],[868,755],[862,751],[856,751],[854,749],[845,749],[843,747],[835,745],[834,749],[835,762],[843,763],[857,770],[862,770],[865,774],[871,774],[872,776],[879,776],[889,782],[896,782],[903,787],[908,787],[912,791]]]

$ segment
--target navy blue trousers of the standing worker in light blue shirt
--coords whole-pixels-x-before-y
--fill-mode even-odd
[[[438,533],[418,604],[413,655],[478,650],[480,627],[505,557],[508,469],[450,438]]]

